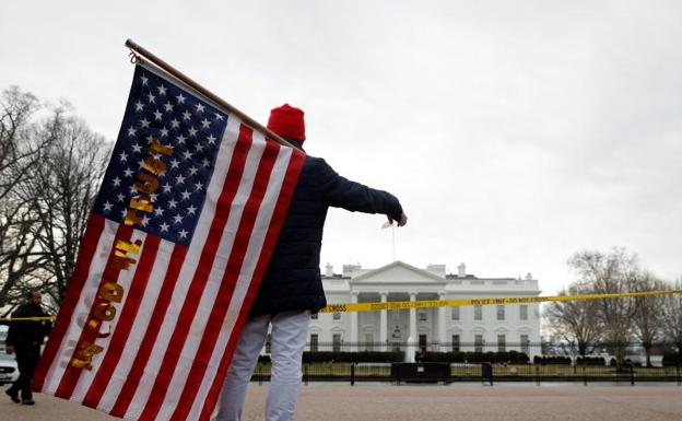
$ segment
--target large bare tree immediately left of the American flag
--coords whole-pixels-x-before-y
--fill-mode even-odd
[[[68,105],[56,108],[38,126],[36,136],[47,147],[40,165],[31,168],[20,188],[38,219],[33,236],[45,255],[44,291],[57,305],[73,272],[110,149],[103,137],[69,116],[68,109]]]

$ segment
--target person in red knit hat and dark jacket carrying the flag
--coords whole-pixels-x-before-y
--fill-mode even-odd
[[[268,128],[303,150],[306,137],[301,109],[289,104],[272,109]],[[242,419],[246,389],[270,325],[272,370],[266,420],[294,419],[310,314],[327,305],[319,254],[329,207],[383,213],[398,226],[408,222],[392,195],[345,179],[325,160],[306,156],[270,264],[232,358],[216,421]]]

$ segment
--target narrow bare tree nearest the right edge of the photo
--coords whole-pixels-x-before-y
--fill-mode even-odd
[[[633,292],[665,290],[666,284],[649,272],[635,276],[632,284]],[[633,327],[635,337],[642,342],[646,353],[646,365],[651,366],[651,348],[661,336],[662,295],[636,296],[634,299]]]

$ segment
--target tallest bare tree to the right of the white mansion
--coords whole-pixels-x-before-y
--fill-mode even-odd
[[[579,283],[602,294],[627,292],[638,271],[636,257],[622,248],[614,248],[609,254],[580,252],[569,259],[568,265],[579,276]],[[604,339],[612,347],[615,361],[621,366],[633,334],[634,301],[600,299],[596,303]]]

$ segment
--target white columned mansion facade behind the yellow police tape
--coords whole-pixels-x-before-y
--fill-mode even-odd
[[[426,269],[395,261],[378,269],[346,265],[334,274],[327,266],[322,284],[329,304],[485,297],[538,296],[538,281],[446,273],[445,265]],[[308,350],[388,351],[412,343],[430,351],[521,351],[541,354],[538,304],[411,308],[314,315]]]

